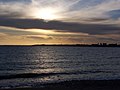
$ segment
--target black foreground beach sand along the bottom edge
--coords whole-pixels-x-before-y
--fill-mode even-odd
[[[47,84],[38,88],[17,88],[9,90],[120,90],[120,80],[82,80]]]

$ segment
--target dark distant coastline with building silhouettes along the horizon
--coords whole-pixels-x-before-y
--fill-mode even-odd
[[[0,46],[72,46],[72,47],[120,47],[120,44],[34,44],[34,45],[0,45]]]

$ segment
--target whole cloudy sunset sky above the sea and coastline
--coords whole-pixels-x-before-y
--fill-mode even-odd
[[[120,44],[120,0],[0,0],[0,45]]]

